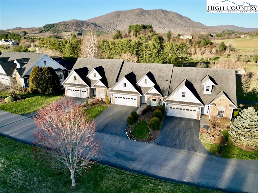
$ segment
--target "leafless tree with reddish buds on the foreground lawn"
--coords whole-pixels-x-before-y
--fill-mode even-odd
[[[59,167],[70,170],[72,186],[75,186],[75,172],[82,175],[100,160],[94,121],[90,122],[85,111],[72,100],[51,103],[39,110],[34,119],[39,129],[35,132],[35,143],[47,148],[60,161]]]

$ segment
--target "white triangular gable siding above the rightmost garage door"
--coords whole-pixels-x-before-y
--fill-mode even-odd
[[[182,92],[186,93],[186,97],[182,97]],[[200,103],[195,95],[193,95],[193,93],[186,86],[183,86],[179,91],[168,98],[168,100]]]

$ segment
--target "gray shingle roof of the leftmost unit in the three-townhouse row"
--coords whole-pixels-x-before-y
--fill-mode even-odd
[[[123,60],[112,59],[78,58],[72,70],[87,67],[88,70],[81,72],[79,75],[80,77],[83,76],[81,77],[83,79],[88,75],[89,72],[92,71],[93,68],[99,67],[97,68],[98,72],[101,71],[101,69],[104,70],[104,72],[100,72],[102,74],[102,78],[104,78],[104,73],[104,75],[107,78],[108,87],[112,88],[116,84],[117,76],[119,74],[123,62]],[[100,68],[100,66],[102,66],[103,68]]]

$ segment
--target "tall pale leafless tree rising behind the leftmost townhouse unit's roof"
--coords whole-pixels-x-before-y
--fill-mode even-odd
[[[82,39],[82,43],[80,45],[80,53],[79,56],[81,58],[99,58],[100,57],[100,48],[99,42],[97,40],[96,33],[89,31],[87,32]]]

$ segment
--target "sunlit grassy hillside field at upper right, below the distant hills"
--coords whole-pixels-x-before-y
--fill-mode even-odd
[[[242,51],[252,51],[255,49],[258,51],[258,40],[257,37],[250,37],[252,39],[247,39],[247,37],[236,38],[236,39],[226,39],[226,40],[214,40],[212,42],[224,42],[225,44],[233,42],[233,47]]]

